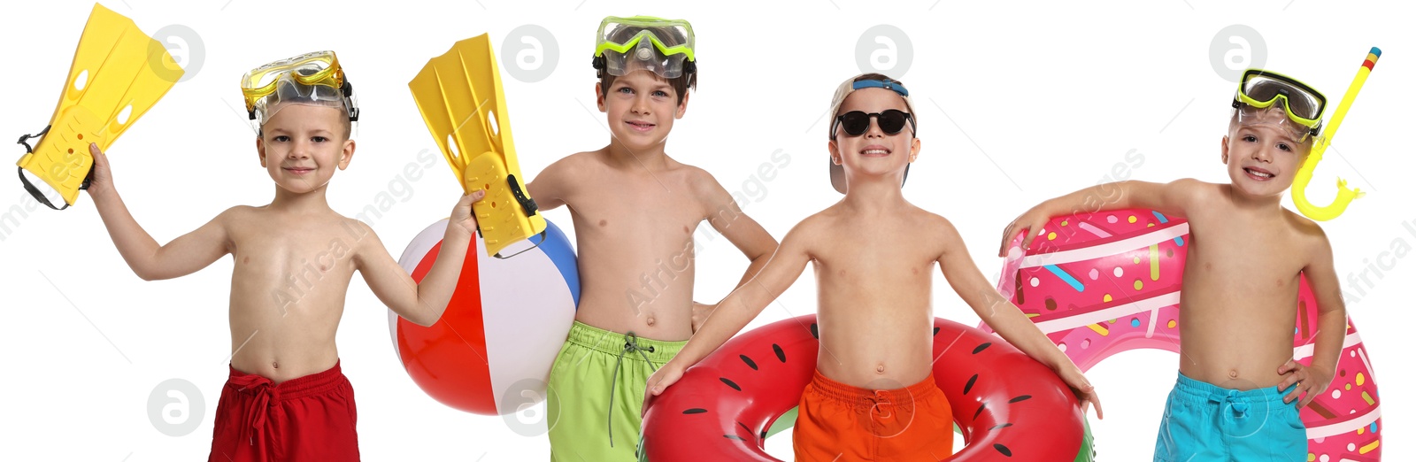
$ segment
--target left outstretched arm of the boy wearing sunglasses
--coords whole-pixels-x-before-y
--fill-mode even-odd
[[[807,218],[809,221],[811,218]],[[782,238],[782,245],[777,251],[767,259],[766,266],[762,268],[756,276],[753,276],[748,283],[728,293],[722,302],[718,303],[721,310],[714,309],[712,316],[704,322],[702,329],[698,329],[688,344],[684,346],[673,360],[654,371],[649,377],[649,388],[646,390],[644,400],[647,401],[650,395],[657,395],[664,393],[668,385],[673,385],[684,376],[684,370],[698,364],[704,357],[722,346],[728,339],[736,334],[742,327],[748,326],[762,309],[776,300],[796,278],[801,275],[806,269],[806,264],[811,261],[809,252],[809,244],[814,241],[813,232],[807,222],[797,224],[784,238]]]

